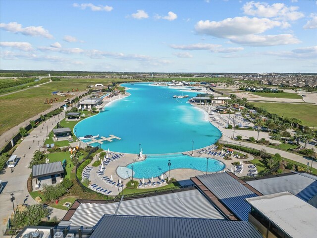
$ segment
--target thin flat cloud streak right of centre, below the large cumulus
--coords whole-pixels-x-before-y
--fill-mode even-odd
[[[170,46],[176,50],[184,50],[184,51],[202,51],[208,50],[215,53],[231,53],[231,52],[238,52],[242,51],[242,47],[232,47],[232,48],[223,48],[221,45],[214,45],[214,44],[191,44],[191,45],[171,45]]]

